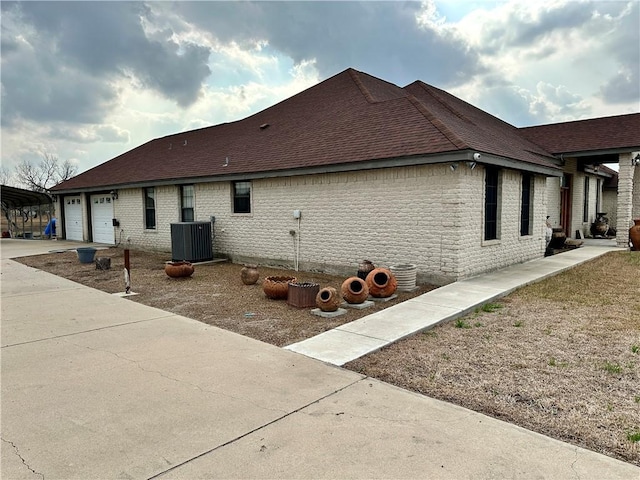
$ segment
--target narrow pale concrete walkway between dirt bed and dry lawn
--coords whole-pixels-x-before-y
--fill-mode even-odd
[[[438,323],[466,315],[519,287],[615,250],[610,244],[594,242],[592,246],[455,282],[285,348],[344,365]]]

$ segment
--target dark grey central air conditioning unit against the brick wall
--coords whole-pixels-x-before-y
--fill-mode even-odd
[[[192,263],[213,260],[211,222],[172,223],[171,259]]]

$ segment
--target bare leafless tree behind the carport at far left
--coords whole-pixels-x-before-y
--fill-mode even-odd
[[[69,160],[60,162],[52,153],[43,152],[42,160],[34,165],[29,160],[24,160],[16,166],[16,179],[29,190],[36,192],[48,192],[58,183],[69,180],[76,174],[77,167]]]

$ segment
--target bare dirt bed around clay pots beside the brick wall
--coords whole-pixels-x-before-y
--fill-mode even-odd
[[[96,270],[93,263],[79,263],[74,251],[16,260],[108,293],[124,292],[123,249],[99,250],[98,257],[111,258],[111,269]],[[299,282],[314,282],[320,288],[332,286],[340,291],[345,277],[259,267],[258,282],[244,285],[240,280],[243,265],[223,262],[196,265],[194,274],[188,278],[170,278],[164,272],[164,264],[169,259],[170,255],[163,253],[131,250],[131,286],[139,295],[128,298],[279,347],[313,337],[435,288],[422,285],[414,292],[398,293],[395,300],[376,303],[364,310],[348,309],[345,315],[327,319],[311,314],[310,308],[296,308],[284,300],[267,298],[262,290],[262,280],[272,275],[295,276]],[[354,275],[357,269],[354,265]]]

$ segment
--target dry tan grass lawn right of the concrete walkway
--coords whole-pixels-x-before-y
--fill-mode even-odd
[[[640,465],[640,252],[607,254],[346,367]]]

